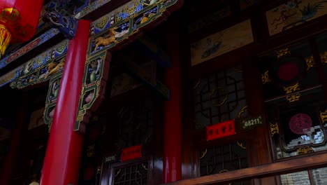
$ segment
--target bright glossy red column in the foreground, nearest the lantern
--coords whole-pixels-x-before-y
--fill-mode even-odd
[[[70,41],[61,78],[41,185],[78,184],[84,135],[73,131],[89,41],[89,21],[80,20]]]

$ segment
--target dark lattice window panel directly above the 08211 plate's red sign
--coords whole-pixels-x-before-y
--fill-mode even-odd
[[[242,70],[235,67],[196,81],[194,96],[196,129],[238,118],[246,106]]]

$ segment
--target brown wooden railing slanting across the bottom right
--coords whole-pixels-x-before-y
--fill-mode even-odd
[[[242,181],[247,179],[270,177],[278,174],[287,174],[290,172],[298,172],[309,170],[327,165],[327,153],[317,154],[315,156],[307,156],[303,158],[294,158],[277,163],[260,165],[256,167],[248,167],[241,170],[224,172],[221,174],[212,174],[194,179],[185,179],[169,183],[169,185],[192,185],[192,184],[220,184],[230,183],[233,181]]]

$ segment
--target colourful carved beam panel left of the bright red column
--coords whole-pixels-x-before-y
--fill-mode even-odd
[[[48,81],[58,71],[64,69],[63,56],[68,49],[68,41],[63,41],[23,64],[15,71],[12,88],[24,88],[43,81]]]

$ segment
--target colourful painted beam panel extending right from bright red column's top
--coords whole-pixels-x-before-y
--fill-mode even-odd
[[[109,49],[156,20],[177,0],[133,0],[92,22],[89,55]]]

